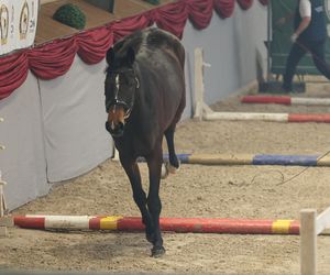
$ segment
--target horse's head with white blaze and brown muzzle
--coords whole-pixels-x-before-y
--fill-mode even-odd
[[[113,138],[124,133],[124,125],[134,106],[135,92],[140,82],[133,68],[135,53],[128,48],[124,55],[117,54],[113,48],[107,53],[109,65],[106,77],[107,131]]]

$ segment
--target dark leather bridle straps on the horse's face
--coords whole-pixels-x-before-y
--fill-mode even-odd
[[[128,72],[133,72],[134,75],[134,80],[135,80],[135,89],[134,89],[134,94],[132,97],[132,102],[130,105],[128,105],[125,101],[120,100],[119,99],[119,75],[120,74],[124,74]],[[132,109],[133,109],[133,105],[134,105],[134,99],[135,99],[135,91],[140,88],[140,80],[136,77],[135,70],[133,68],[129,68],[129,69],[120,69],[120,70],[112,70],[112,69],[108,69],[108,73],[116,75],[116,91],[114,91],[114,99],[108,103],[106,103],[106,109],[107,112],[109,112],[109,109],[111,106],[123,106],[127,110],[125,110],[125,114],[124,114],[124,119],[128,119],[131,116]]]

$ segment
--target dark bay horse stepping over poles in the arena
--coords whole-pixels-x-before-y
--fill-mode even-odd
[[[174,132],[186,105],[185,50],[172,34],[150,28],[117,42],[107,63],[106,129],[130,179],[146,239],[153,244],[152,256],[161,256],[165,253],[160,228],[162,143],[165,135],[169,164],[178,168]],[[147,196],[136,163],[141,156],[148,167]]]

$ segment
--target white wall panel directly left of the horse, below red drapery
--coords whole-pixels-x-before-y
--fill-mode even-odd
[[[41,80],[50,182],[79,176],[112,156],[105,129],[105,61],[86,65],[76,56],[62,77]]]

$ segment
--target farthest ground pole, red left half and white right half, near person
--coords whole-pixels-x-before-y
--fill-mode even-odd
[[[329,98],[298,98],[289,96],[244,96],[242,103],[274,103],[274,105],[304,105],[304,106],[330,106]]]

